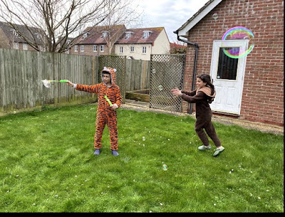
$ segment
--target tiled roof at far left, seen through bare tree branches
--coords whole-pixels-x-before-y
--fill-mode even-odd
[[[18,25],[18,24],[15,24],[15,26],[16,26],[16,28],[19,29],[19,31],[21,31],[21,33],[24,34],[24,36],[26,36],[26,38],[29,38],[29,40],[31,40],[31,41],[33,41],[33,37],[31,36],[31,32],[28,31],[28,28],[33,32],[33,34],[41,32],[40,29],[30,27],[30,26],[28,28],[26,28],[26,26],[24,26],[24,25]],[[9,40],[11,40],[11,38],[13,37],[12,39],[14,42],[26,43],[26,41],[23,38],[21,38],[20,36],[13,36],[11,30],[13,30],[14,28],[9,26],[9,23],[4,23],[4,22],[0,21],[0,28],[5,33],[6,37],[9,38]],[[36,35],[34,35],[34,38],[36,38],[36,43],[41,44],[41,40],[38,39],[36,37]]]

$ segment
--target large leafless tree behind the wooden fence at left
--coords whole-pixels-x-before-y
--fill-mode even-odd
[[[86,26],[98,26],[120,11],[125,0],[0,0],[0,18],[36,51],[64,52],[68,38]],[[19,26],[24,26],[26,29]],[[28,32],[28,33],[27,33]]]

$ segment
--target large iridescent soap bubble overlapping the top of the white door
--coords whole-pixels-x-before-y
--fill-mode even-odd
[[[248,40],[249,44],[247,50],[244,49],[243,51],[239,47],[226,47],[225,42],[230,40]],[[252,49],[254,48],[254,34],[248,28],[243,26],[230,28],[226,33],[224,33],[224,36],[222,36],[222,47],[224,47],[224,54],[229,58],[241,58],[252,52]]]

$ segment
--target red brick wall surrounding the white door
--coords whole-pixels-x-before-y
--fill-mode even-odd
[[[212,18],[214,13],[217,19]],[[254,33],[239,118],[284,125],[284,1],[224,0],[217,5],[190,30],[188,41],[199,45],[197,74],[210,73],[213,40],[221,40],[234,26],[244,26]],[[195,46],[188,46],[185,90],[192,88],[194,58]]]

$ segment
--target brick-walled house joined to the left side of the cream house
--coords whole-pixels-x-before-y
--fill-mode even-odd
[[[73,42],[70,54],[109,55],[115,53],[115,41],[125,32],[125,25],[88,27]]]

